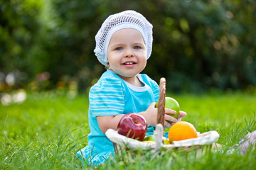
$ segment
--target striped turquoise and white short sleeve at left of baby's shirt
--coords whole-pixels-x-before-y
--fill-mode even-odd
[[[118,115],[124,111],[124,86],[119,79],[107,78],[95,84],[89,94],[92,115]]]

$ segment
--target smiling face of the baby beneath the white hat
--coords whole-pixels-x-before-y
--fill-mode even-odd
[[[117,30],[107,48],[107,61],[124,80],[142,72],[146,67],[146,45],[142,34],[132,28]]]

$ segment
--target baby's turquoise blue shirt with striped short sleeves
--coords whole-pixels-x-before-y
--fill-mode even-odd
[[[107,69],[90,89],[88,147],[94,155],[114,152],[112,142],[99,128],[96,118],[98,115],[139,113],[146,111],[151,103],[158,101],[158,84],[146,74],[138,74],[137,77],[144,86],[132,86]],[[150,132],[153,132],[153,127],[148,128],[148,133]]]

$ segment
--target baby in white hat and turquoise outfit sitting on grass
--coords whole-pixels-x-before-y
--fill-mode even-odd
[[[107,71],[92,86],[89,93],[89,125],[87,147],[78,152],[78,157],[89,165],[105,162],[114,156],[113,143],[107,138],[108,129],[117,130],[123,115],[142,115],[148,125],[146,135],[154,133],[156,126],[159,86],[146,74],[152,50],[152,25],[136,11],[123,11],[109,16],[96,37],[95,55]],[[165,109],[165,120],[176,123],[186,113],[180,111],[178,118],[169,114],[176,111]],[[167,121],[165,126],[171,126]]]

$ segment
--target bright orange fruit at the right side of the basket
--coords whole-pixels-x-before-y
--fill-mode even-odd
[[[169,129],[169,141],[188,140],[198,137],[196,128],[186,121],[177,122]]]

